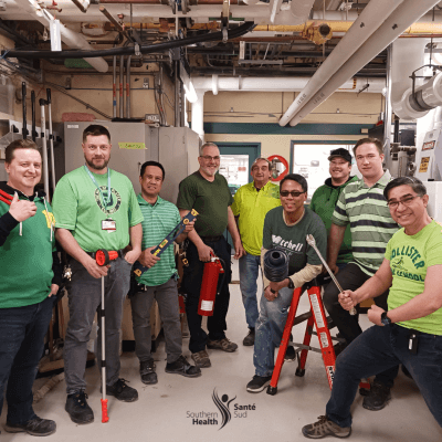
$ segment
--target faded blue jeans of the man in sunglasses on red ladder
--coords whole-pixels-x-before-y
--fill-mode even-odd
[[[283,337],[293,290],[284,287],[274,301],[261,297],[260,317],[255,327],[253,364],[257,376],[272,376],[275,366],[275,348]]]

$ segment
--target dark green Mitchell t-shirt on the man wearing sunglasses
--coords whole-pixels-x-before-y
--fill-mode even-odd
[[[288,274],[293,275],[311,265],[322,265],[315,250],[307,244],[307,234],[316,240],[316,246],[323,256],[327,251],[327,231],[322,219],[311,209],[305,208],[301,221],[287,225],[283,218],[283,208],[272,209],[264,220],[264,249],[282,249],[288,255]]]

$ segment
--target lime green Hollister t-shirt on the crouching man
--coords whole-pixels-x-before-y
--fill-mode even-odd
[[[404,229],[391,238],[386,249],[393,283],[388,295],[388,308],[397,308],[424,290],[427,269],[442,264],[442,225],[431,221],[415,235]],[[398,323],[431,335],[442,335],[442,308],[419,319]]]

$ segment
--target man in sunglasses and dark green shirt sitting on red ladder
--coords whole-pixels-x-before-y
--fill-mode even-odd
[[[265,276],[260,316],[255,326],[253,364],[255,376],[246,390],[257,393],[269,385],[274,368],[274,351],[280,346],[294,288],[302,287],[323,270],[315,250],[307,244],[312,234],[320,253],[327,248],[327,232],[320,218],[305,208],[307,181],[290,173],[281,181],[281,207],[267,212],[264,220],[261,257],[271,249],[282,249],[288,256],[288,277],[278,283]]]

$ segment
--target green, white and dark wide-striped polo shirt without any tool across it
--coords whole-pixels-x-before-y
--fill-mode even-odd
[[[350,224],[354,262],[370,276],[382,264],[387,243],[399,229],[383,198],[383,189],[390,180],[387,170],[372,187],[364,180],[348,183],[332,215],[334,224]]]

